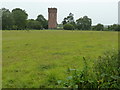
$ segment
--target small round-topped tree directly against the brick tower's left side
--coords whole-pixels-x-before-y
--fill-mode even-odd
[[[48,21],[44,18],[43,15],[38,15],[36,20],[41,23],[42,29],[48,29]]]

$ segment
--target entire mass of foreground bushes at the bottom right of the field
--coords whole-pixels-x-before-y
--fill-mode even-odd
[[[84,68],[68,69],[70,76],[65,81],[58,81],[60,86],[68,88],[114,88],[120,89],[120,51],[107,51],[89,67],[83,57]],[[93,76],[90,70],[93,70]]]

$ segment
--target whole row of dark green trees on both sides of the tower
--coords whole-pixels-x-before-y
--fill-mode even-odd
[[[28,14],[25,10],[15,8],[11,12],[9,9],[2,8],[2,29],[3,30],[41,30],[48,29],[48,20],[42,14],[36,19],[28,19]],[[70,13],[58,24],[57,29],[64,30],[97,30],[97,31],[120,31],[120,25],[113,24],[104,26],[101,23],[92,26],[92,19],[88,16],[83,16],[74,20],[74,14]]]

